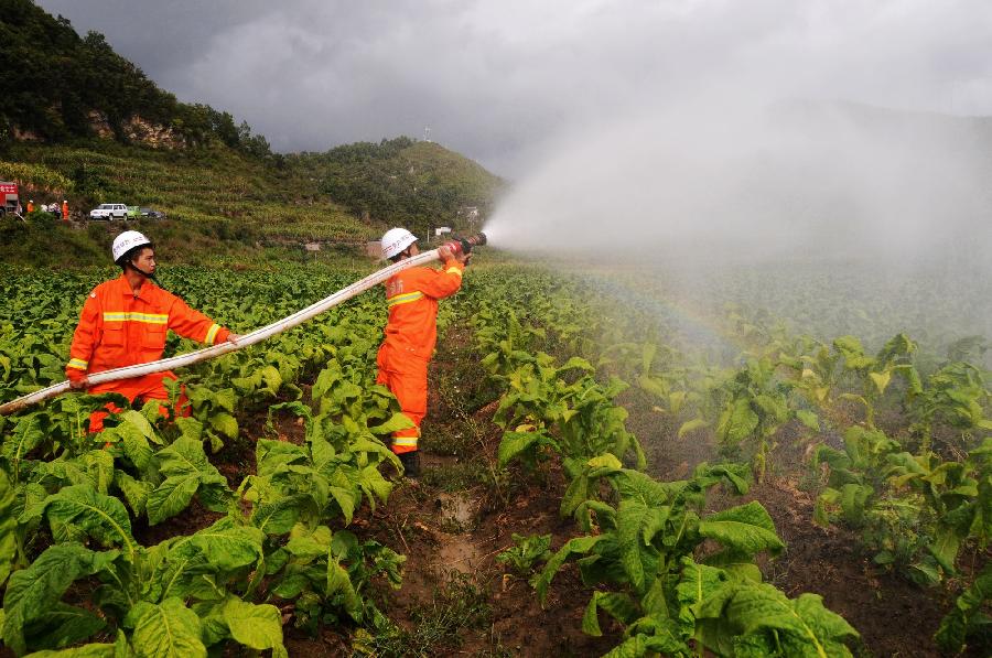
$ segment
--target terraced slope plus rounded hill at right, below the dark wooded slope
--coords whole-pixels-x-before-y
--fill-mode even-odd
[[[157,150],[98,139],[9,142],[0,148],[0,179],[17,180],[23,202],[67,198],[77,222],[68,227],[44,217],[34,223],[0,219],[0,260],[36,266],[104,262],[121,227],[83,222],[86,211],[99,203],[165,212],[166,220],[142,226],[155,235],[170,260],[194,263],[258,262],[255,252],[260,249],[269,250],[266,259],[295,259],[302,257],[304,242],[356,255],[389,224],[407,224],[427,235],[428,222],[459,225],[460,207],[485,212],[492,204],[489,191],[498,179],[477,164],[436,144],[392,141],[409,142],[395,159],[326,169],[321,169],[321,155],[259,159],[220,143]],[[398,162],[413,172],[403,179],[417,180],[419,205],[396,193],[390,172]]]

